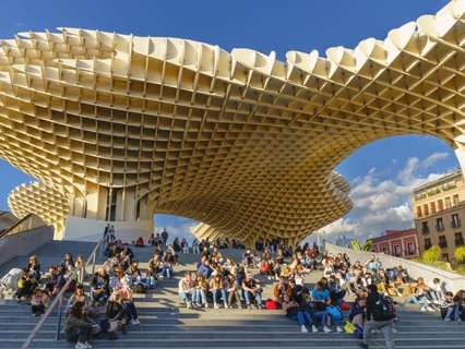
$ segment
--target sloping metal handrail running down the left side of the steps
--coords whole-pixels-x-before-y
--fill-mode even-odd
[[[102,245],[104,244],[105,239],[102,239],[95,248],[92,250],[90,256],[87,257],[84,269],[92,264],[92,274],[95,273],[95,260],[97,256],[98,251],[100,250]],[[61,288],[60,292],[55,297],[51,304],[48,306],[45,314],[40,317],[39,322],[36,324],[27,339],[24,341],[21,349],[28,349],[35,338],[35,336],[40,330],[41,326],[45,324],[47,318],[50,316],[50,314],[53,312],[55,309],[58,306],[58,318],[57,318],[57,332],[55,338],[57,340],[60,340],[60,332],[61,332],[61,316],[62,316],[62,310],[63,310],[63,298],[64,293],[67,292],[68,288],[70,287],[71,282],[76,279],[78,276],[78,268],[74,268],[74,270],[71,273],[70,277],[68,278],[67,282]]]

